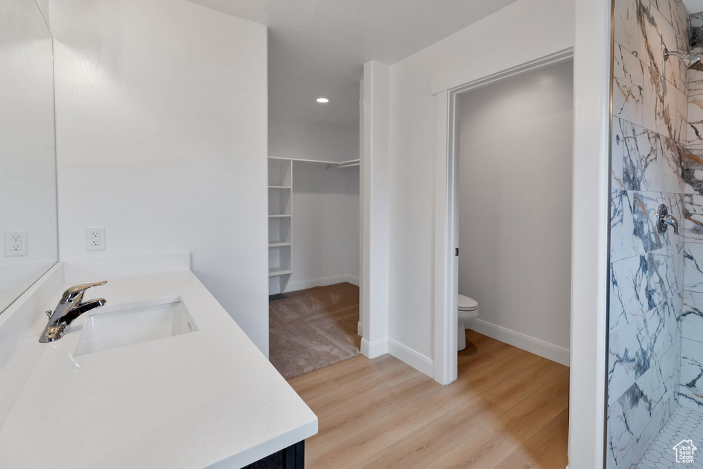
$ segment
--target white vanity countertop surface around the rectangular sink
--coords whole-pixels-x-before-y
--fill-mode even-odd
[[[317,432],[314,413],[191,271],[108,281],[86,300],[180,296],[199,330],[72,356],[101,308],[49,344],[38,342],[39,311],[0,368],[0,467],[237,468]]]

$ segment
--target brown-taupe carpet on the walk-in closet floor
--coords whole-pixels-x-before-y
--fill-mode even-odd
[[[290,379],[359,355],[359,287],[337,283],[269,302],[269,359]]]

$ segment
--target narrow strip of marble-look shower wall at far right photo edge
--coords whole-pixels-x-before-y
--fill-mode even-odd
[[[691,51],[703,53],[703,14],[692,15]],[[683,320],[679,401],[703,410],[703,71],[688,72],[687,152],[683,158]]]

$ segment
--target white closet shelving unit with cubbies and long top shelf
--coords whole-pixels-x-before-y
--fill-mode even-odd
[[[269,295],[283,293],[292,274],[293,163],[327,169],[359,167],[359,160],[324,161],[269,157]]]

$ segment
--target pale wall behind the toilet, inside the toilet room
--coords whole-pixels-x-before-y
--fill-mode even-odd
[[[525,335],[565,364],[573,68],[569,60],[503,79],[459,105],[459,293],[480,310],[470,326]]]

